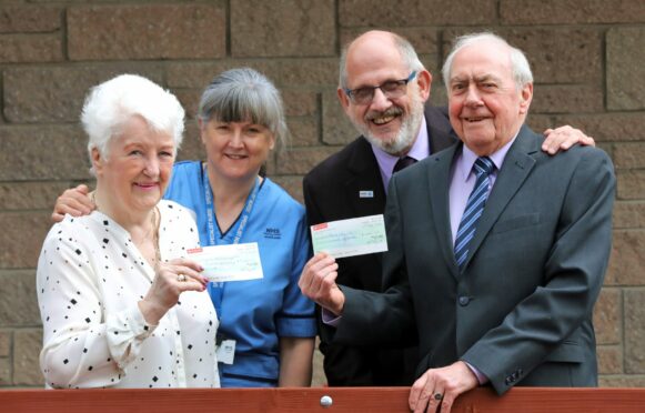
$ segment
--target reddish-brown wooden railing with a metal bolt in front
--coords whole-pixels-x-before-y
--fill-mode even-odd
[[[407,412],[407,387],[0,390],[0,412]],[[645,412],[645,389],[476,389],[455,413]]]

